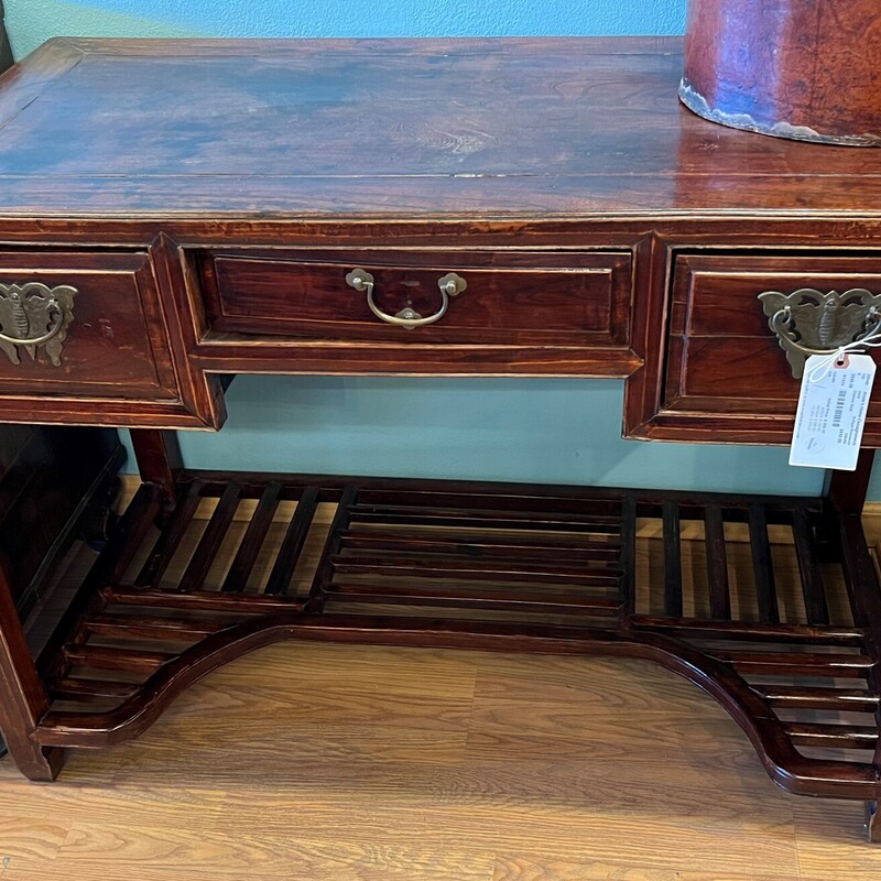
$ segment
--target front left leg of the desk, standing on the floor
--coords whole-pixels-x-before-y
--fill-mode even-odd
[[[52,781],[61,771],[63,752],[31,740],[48,710],[46,689],[24,639],[6,574],[0,569],[0,732],[21,772],[36,781]]]

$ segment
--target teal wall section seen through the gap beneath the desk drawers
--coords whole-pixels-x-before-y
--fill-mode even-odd
[[[612,380],[239,377],[227,401],[220,435],[182,433],[187,461],[718,491],[820,488],[820,472],[790,468],[772,447],[622,440],[622,383]]]

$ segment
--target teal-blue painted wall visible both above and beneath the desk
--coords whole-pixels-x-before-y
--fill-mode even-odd
[[[13,51],[54,35],[670,34],[686,0],[7,0]],[[815,493],[779,448],[620,437],[622,384],[586,380],[240,377],[194,467]]]

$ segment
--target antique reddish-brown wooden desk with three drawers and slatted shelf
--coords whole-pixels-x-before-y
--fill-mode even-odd
[[[0,420],[129,426],[144,481],[35,661],[0,589],[0,730],[23,773],[139,735],[275,640],[467,646],[654,661],[784,788],[873,818],[870,453],[824,499],[721,497],[195,472],[164,431],[219,428],[236,373],[546,374],[626,379],[630,437],[786,443],[793,350],[757,297],[815,290],[792,301],[809,311],[856,289],[850,338],[878,324],[881,151],[714,126],[677,104],[681,70],[676,40],[61,40],[7,75]],[[292,590],[328,503],[312,588]],[[645,519],[656,579],[638,574]]]

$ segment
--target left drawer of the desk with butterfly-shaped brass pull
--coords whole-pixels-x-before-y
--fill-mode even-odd
[[[0,251],[0,421],[210,425],[186,373],[149,252]]]

